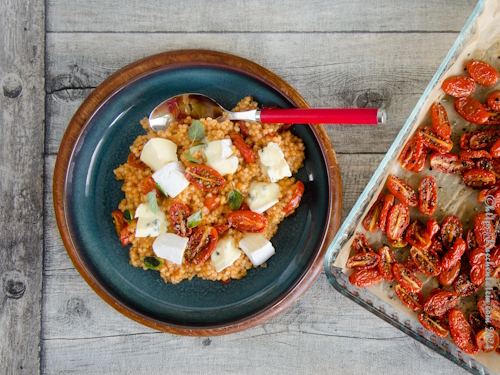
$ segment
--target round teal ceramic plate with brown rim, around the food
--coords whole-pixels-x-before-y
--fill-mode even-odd
[[[177,53],[187,52],[192,51]],[[149,59],[154,58],[158,56]],[[333,150],[327,150],[331,145],[322,139],[322,127],[294,125],[293,133],[306,146],[305,166],[295,176],[304,182],[305,193],[296,213],[279,225],[271,239],[276,255],[267,268],[251,269],[246,277],[226,285],[199,278],[173,285],[165,283],[156,271],[131,266],[129,246],[121,245],[110,216],[124,198],[122,181],[116,181],[113,169],[126,161],[134,139],[145,134],[139,123],[142,118],[164,99],[186,92],[210,96],[225,108],[232,108],[246,95],[266,106],[302,104],[276,82],[241,66],[200,61],[200,51],[191,59],[194,61],[158,67],[146,64],[147,69],[134,70],[137,74],[130,77],[134,67],[150,61],[146,59],[110,77],[111,81],[115,76],[124,79],[123,72],[129,73],[124,82],[114,79],[116,89],[102,100],[95,95],[87,99],[61,144],[54,201],[61,236],[75,266],[113,307],[160,330],[221,334],[269,319],[317,277],[326,242],[338,229],[340,175],[332,176],[328,164],[336,161],[329,160]],[[95,93],[104,96],[113,87],[109,85],[108,79],[101,85],[105,90],[100,92],[99,86]],[[332,186],[334,179],[337,186]]]

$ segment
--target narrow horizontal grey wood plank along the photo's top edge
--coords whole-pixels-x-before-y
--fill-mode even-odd
[[[460,31],[477,1],[182,2],[50,0],[48,31],[353,32]],[[307,8],[307,9],[305,9]],[[112,15],[112,16],[111,16]],[[90,21],[91,20],[91,21]],[[89,22],[90,21],[90,22]]]

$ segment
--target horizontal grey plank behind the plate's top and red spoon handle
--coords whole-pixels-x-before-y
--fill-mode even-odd
[[[255,61],[285,79],[313,107],[384,106],[388,115],[384,126],[327,130],[339,153],[383,153],[455,38],[455,33],[256,34],[251,38],[248,34],[48,34],[47,147],[57,151],[65,124],[88,95],[85,89],[139,58],[189,47]],[[64,108],[64,103],[69,107]],[[59,119],[58,113],[65,118]],[[53,124],[56,117],[59,122]]]

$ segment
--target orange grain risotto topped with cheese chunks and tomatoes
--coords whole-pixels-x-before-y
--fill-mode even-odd
[[[233,110],[252,109],[245,97]],[[284,124],[188,116],[158,133],[147,118],[141,125],[146,134],[114,170],[125,198],[112,217],[130,264],[174,284],[227,283],[265,267],[269,240],[304,192],[291,177],[303,166],[302,139]]]

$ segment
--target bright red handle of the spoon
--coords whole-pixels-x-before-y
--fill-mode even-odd
[[[365,124],[385,122],[385,111],[378,108],[262,109],[260,121],[289,124]]]

